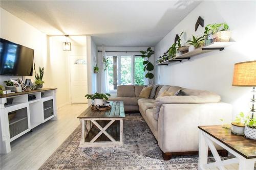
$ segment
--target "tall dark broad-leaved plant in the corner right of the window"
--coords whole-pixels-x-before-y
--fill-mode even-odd
[[[142,58],[147,58],[147,60],[143,61],[144,68],[143,70],[146,71],[147,73],[145,75],[145,78],[148,78],[148,82],[150,81],[149,79],[154,78],[154,74],[150,71],[154,70],[154,65],[149,61],[149,58],[155,53],[151,47],[148,47],[146,51],[140,51],[142,54]]]

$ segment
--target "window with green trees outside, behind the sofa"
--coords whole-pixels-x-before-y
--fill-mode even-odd
[[[143,85],[144,71],[142,57],[134,55],[108,55],[108,80],[110,90],[116,90],[117,85]]]

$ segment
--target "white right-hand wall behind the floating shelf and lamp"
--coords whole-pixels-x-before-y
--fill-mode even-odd
[[[155,83],[185,88],[214,91],[222,101],[233,105],[233,115],[249,111],[251,88],[233,87],[234,63],[255,60],[256,2],[255,1],[204,1],[189,13],[172,31],[155,46],[155,61],[174,43],[176,34],[185,32],[182,43],[191,35],[203,35],[204,28],[195,23],[201,16],[204,26],[209,23],[226,22],[232,31],[235,45],[222,52],[210,52],[181,63],[157,66]]]

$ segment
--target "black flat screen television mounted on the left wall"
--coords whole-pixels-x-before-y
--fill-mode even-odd
[[[32,76],[34,50],[0,38],[0,75]]]

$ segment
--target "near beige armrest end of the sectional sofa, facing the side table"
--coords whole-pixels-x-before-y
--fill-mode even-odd
[[[158,144],[166,152],[198,151],[198,126],[230,123],[227,103],[163,104],[158,117]]]

